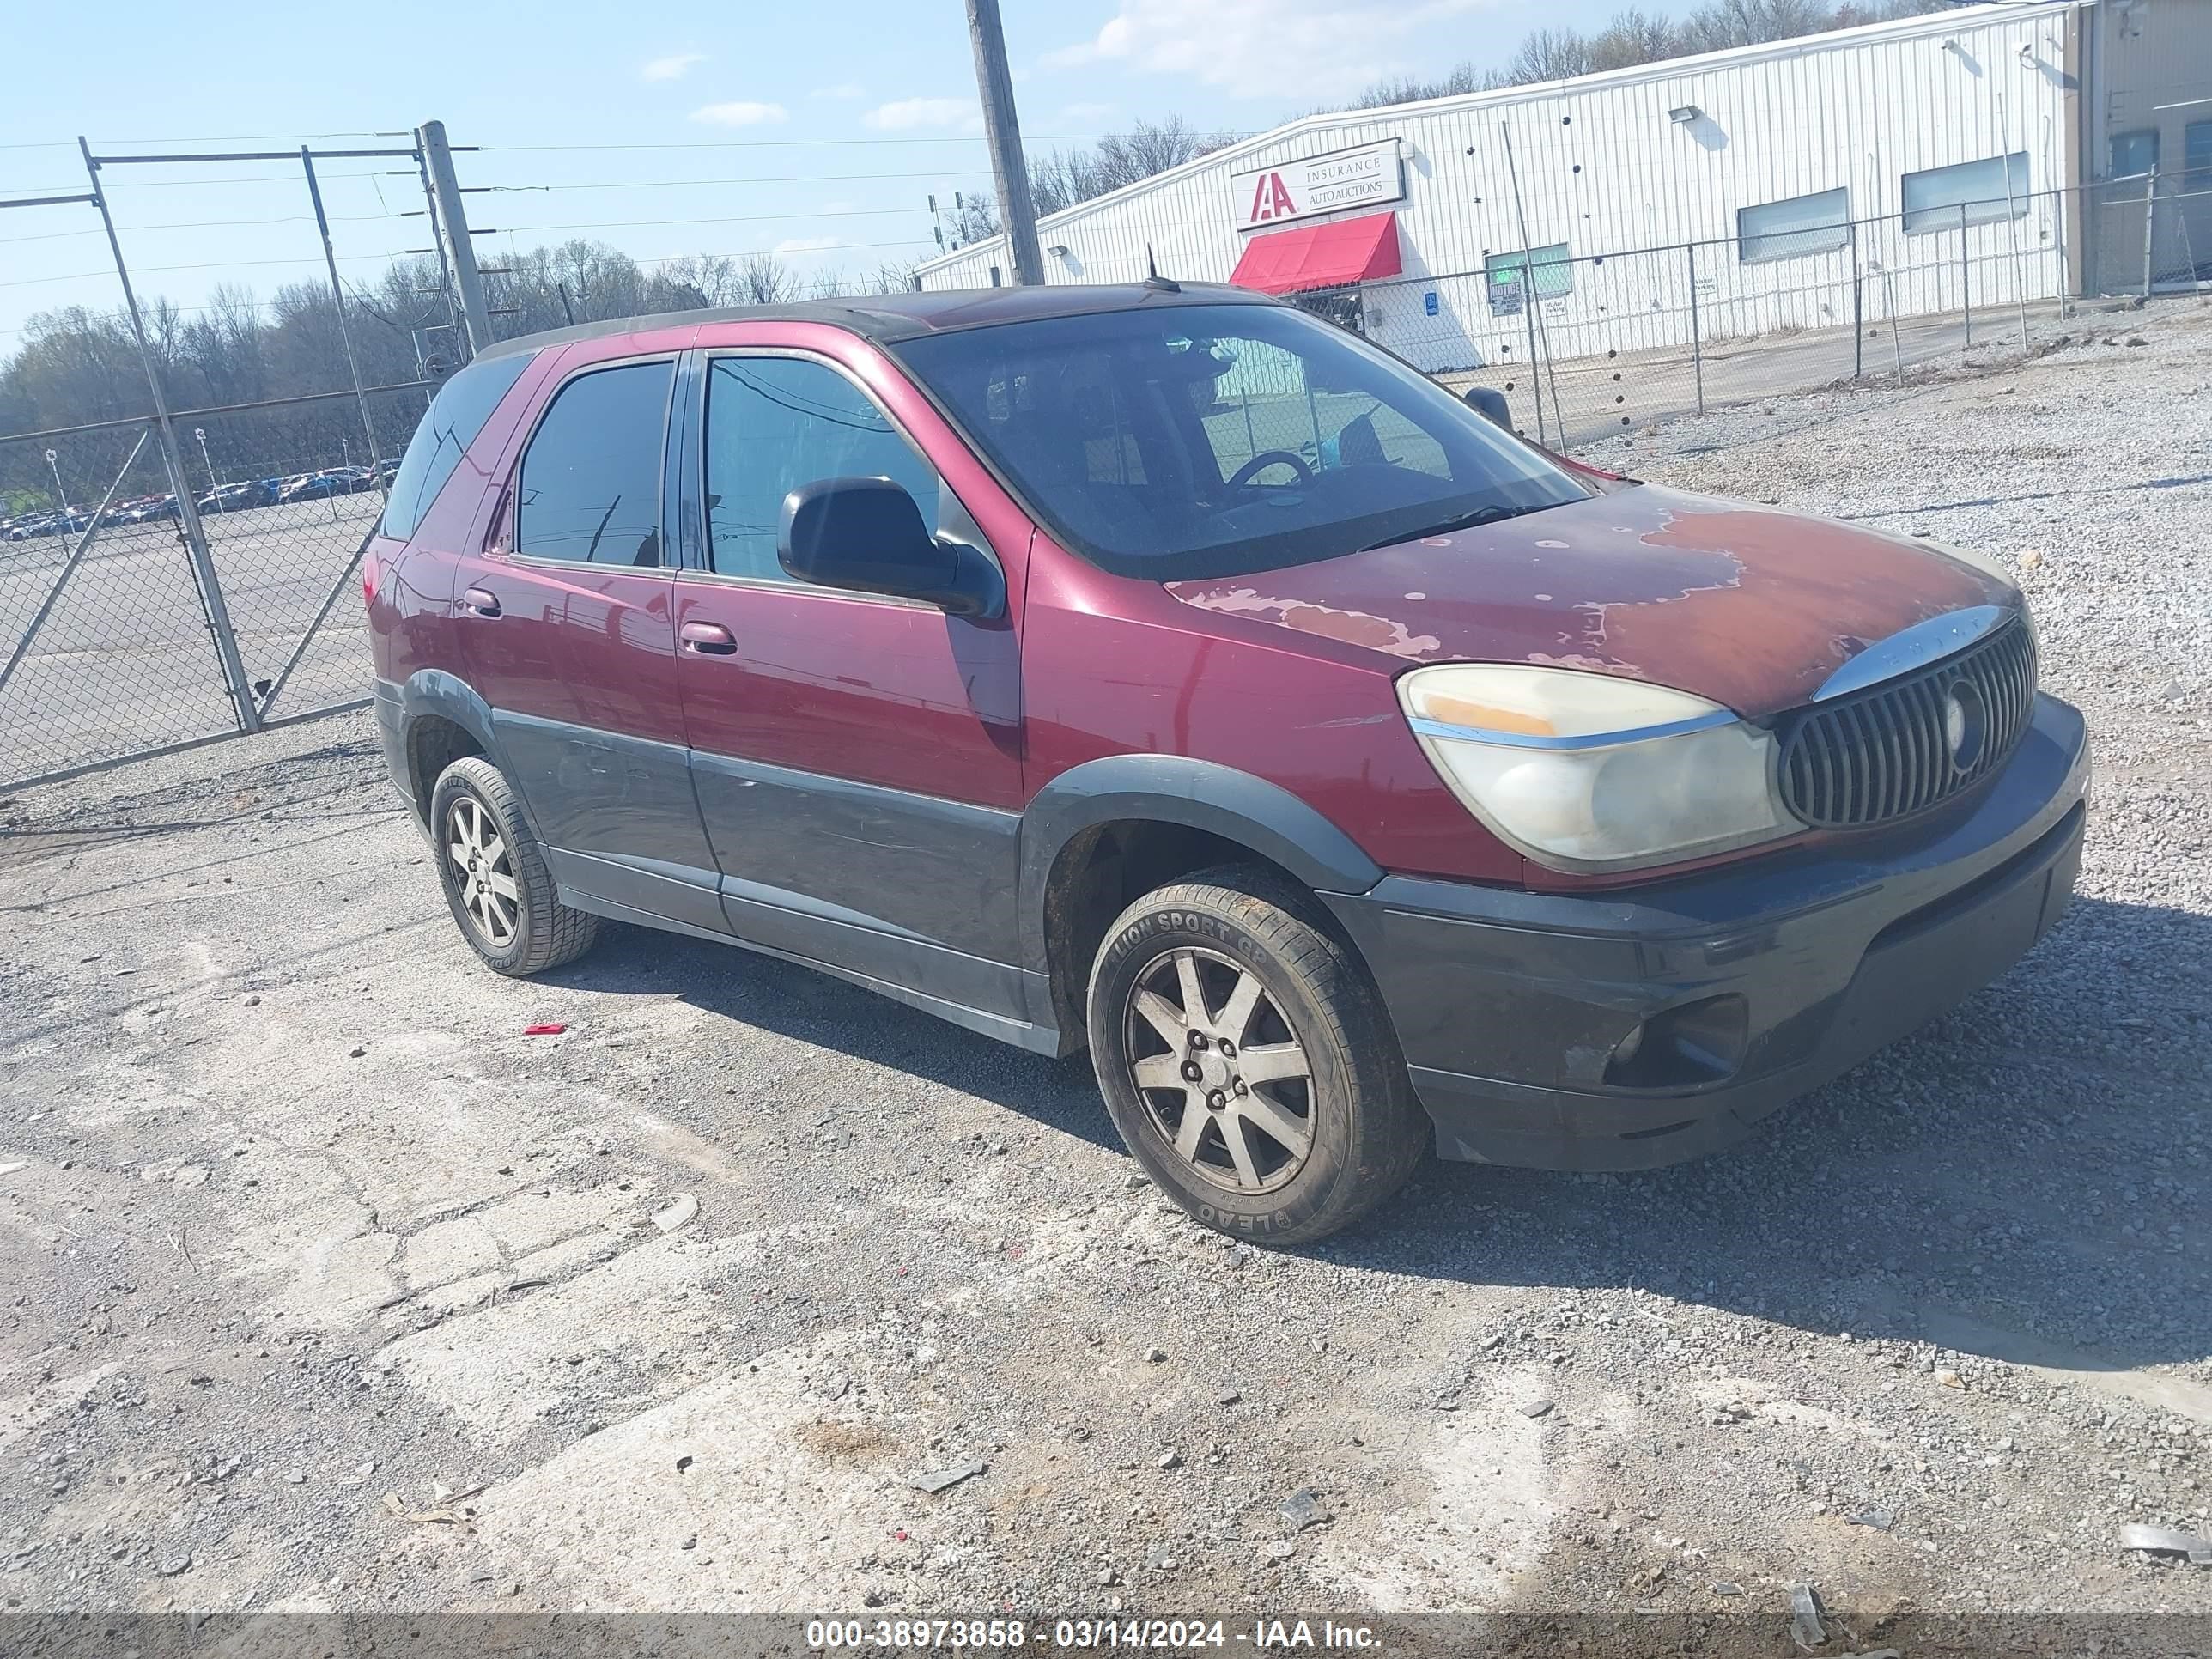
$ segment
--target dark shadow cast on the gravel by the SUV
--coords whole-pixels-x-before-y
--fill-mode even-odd
[[[1026,1055],[774,958],[611,929],[549,978],[672,991],[1119,1148],[1084,1055]],[[2208,1009],[2212,918],[2077,898],[2000,982],[1743,1146],[1617,1177],[1431,1159],[1367,1223],[1298,1254],[1531,1292],[1646,1290],[2084,1374],[2201,1365]],[[2205,1383],[2174,1387],[2212,1402]]]

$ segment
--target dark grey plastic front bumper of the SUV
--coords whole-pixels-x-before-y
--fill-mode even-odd
[[[2006,768],[1933,827],[1595,896],[1387,876],[1325,898],[1442,1157],[1641,1170],[1741,1139],[2017,962],[2073,894],[2088,774],[2081,714],[2037,697]],[[1703,1035],[1697,1009],[1728,1035],[1674,1075],[1646,1055],[1663,1082],[1635,1082],[1621,1040]]]

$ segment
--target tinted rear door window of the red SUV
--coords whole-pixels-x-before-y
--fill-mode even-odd
[[[624,363],[564,385],[522,453],[515,553],[661,562],[661,447],[675,363]]]

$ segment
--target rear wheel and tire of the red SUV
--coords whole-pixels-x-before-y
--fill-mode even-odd
[[[438,774],[429,825],[445,902],[487,967],[526,978],[597,942],[599,918],[560,902],[538,836],[491,761],[467,754]]]

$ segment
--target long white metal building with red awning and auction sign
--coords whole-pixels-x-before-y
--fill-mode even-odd
[[[1046,281],[1298,294],[1427,369],[2081,292],[2081,88],[2135,7],[2212,62],[2212,0],[2022,0],[1312,115],[1040,221]],[[1002,237],[918,272],[1009,279]]]

